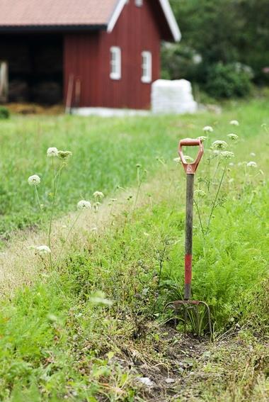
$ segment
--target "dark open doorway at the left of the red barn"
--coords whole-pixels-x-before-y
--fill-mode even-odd
[[[0,60],[8,65],[8,102],[62,102],[62,35],[1,34]]]

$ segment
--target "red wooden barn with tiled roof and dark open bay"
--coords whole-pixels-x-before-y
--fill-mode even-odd
[[[149,108],[161,40],[180,38],[168,0],[0,0],[10,101]]]

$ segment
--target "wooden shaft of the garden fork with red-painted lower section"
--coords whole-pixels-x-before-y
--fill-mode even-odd
[[[194,174],[187,174],[185,222],[185,286],[184,300],[190,300],[193,264],[193,187]]]

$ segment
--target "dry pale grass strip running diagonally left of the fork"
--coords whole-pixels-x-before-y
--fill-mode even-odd
[[[178,169],[164,167],[158,176],[150,182],[142,184],[137,199],[136,208],[158,203],[162,199],[175,196],[179,183]],[[69,228],[74,223],[77,213],[55,220],[52,228],[52,255],[54,261],[60,263],[67,257],[70,250],[81,250],[86,241],[96,233],[103,233],[111,225],[118,225],[124,219],[126,213],[132,213],[137,188],[119,189],[115,194],[115,200],[106,199],[100,206],[98,213],[92,210],[83,211],[74,229],[71,230],[69,239],[62,249],[63,240],[69,233]],[[10,296],[13,291],[22,284],[31,284],[38,275],[44,273],[49,267],[48,257],[40,257],[32,245],[47,245],[45,232],[23,231],[13,235],[8,242],[6,250],[0,255],[0,291],[2,296]],[[60,257],[59,257],[60,254]],[[59,260],[57,260],[59,259]]]

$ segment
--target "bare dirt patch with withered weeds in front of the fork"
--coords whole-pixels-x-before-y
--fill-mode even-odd
[[[124,345],[114,361],[123,371],[131,370],[134,386],[144,401],[170,401],[187,388],[199,359],[209,354],[211,342],[206,338],[178,333],[171,327],[158,329],[140,342]]]

